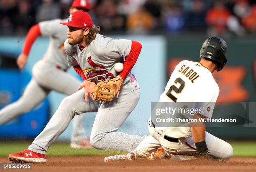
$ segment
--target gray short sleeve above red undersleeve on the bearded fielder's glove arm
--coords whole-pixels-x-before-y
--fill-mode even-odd
[[[105,47],[105,55],[108,58],[125,58],[131,50],[131,40],[111,39]]]

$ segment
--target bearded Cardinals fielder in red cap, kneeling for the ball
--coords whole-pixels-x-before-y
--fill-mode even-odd
[[[117,132],[140,97],[140,88],[131,69],[142,45],[132,40],[115,40],[100,35],[100,28],[93,25],[90,15],[83,11],[73,12],[68,22],[61,24],[69,27],[65,42],[68,63],[76,67],[84,82],[78,92],[62,100],[45,129],[28,149],[10,154],[10,161],[46,162],[49,146],[64,132],[74,116],[84,112],[97,112],[90,137],[91,145],[97,149],[131,151],[143,140],[138,135]],[[114,69],[117,62],[123,62],[120,73]],[[96,83],[113,78],[123,82],[117,97],[108,102],[95,101],[93,91]]]

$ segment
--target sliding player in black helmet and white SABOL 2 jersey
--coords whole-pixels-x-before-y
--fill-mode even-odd
[[[184,107],[181,102],[200,102],[194,106],[200,105],[199,108],[203,109],[194,115],[193,119],[196,120],[185,123],[182,125],[184,127],[160,127],[150,119],[148,130],[151,135],[133,152],[123,156],[106,157],[105,162],[133,160],[136,157],[148,160],[166,158],[175,161],[198,157],[225,161],[232,157],[232,146],[206,132],[204,122],[199,122],[199,118],[212,117],[220,91],[212,73],[222,70],[227,62],[226,42],[220,37],[209,37],[202,45],[200,57],[200,62],[183,60],[175,67],[159,99],[159,102],[176,102],[175,106],[178,107]]]

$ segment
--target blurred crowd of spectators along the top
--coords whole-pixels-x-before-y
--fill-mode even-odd
[[[256,0],[89,0],[102,32],[256,34]],[[0,35],[26,35],[32,25],[66,18],[72,0],[0,0]]]

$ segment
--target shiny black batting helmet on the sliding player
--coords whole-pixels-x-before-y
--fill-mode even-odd
[[[209,37],[202,45],[200,56],[218,62],[217,71],[220,71],[228,61],[227,44],[220,37]]]

